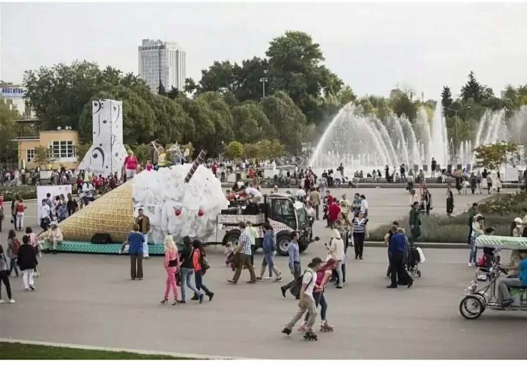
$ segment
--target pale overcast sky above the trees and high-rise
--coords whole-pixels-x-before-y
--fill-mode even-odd
[[[527,84],[527,4],[3,3],[0,78],[74,59],[138,72],[142,38],[179,43],[187,77],[214,60],[265,56],[285,30],[320,44],[326,65],[359,95],[399,83],[437,99],[474,70],[499,96]]]

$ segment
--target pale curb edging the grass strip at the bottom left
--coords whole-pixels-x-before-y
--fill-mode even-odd
[[[210,360],[242,359],[240,357],[219,356],[219,355],[187,354],[187,353],[177,353],[177,352],[161,352],[161,351],[136,350],[136,349],[125,349],[125,348],[108,348],[105,346],[65,344],[65,343],[42,342],[42,341],[35,341],[35,340],[18,340],[18,339],[7,339],[7,338],[0,338],[0,342],[44,345],[44,346],[58,346],[61,348],[75,348],[75,349],[97,350],[97,351],[106,351],[106,352],[129,352],[129,353],[145,354],[145,355],[157,354],[157,355],[167,355],[167,356],[172,356],[172,357],[177,357],[177,358],[194,358],[194,359],[201,359],[201,360],[204,360],[204,359],[210,359]],[[243,359],[250,359],[250,358],[243,358]]]

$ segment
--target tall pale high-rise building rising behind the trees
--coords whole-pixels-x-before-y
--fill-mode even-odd
[[[158,91],[160,82],[167,91],[172,87],[183,91],[185,76],[185,52],[178,44],[143,39],[139,46],[139,77],[152,91]]]

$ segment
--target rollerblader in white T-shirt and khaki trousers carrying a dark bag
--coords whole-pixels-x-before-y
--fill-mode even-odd
[[[308,321],[306,325],[306,334],[304,339],[306,340],[317,340],[317,335],[313,332],[313,324],[315,323],[315,318],[317,316],[317,307],[315,304],[315,299],[313,297],[313,291],[319,289],[320,287],[316,285],[317,280],[317,271],[320,269],[322,260],[320,258],[314,258],[308,264],[308,269],[304,272],[302,277],[302,284],[300,288],[300,301],[298,302],[298,311],[291,319],[290,322],[286,324],[282,333],[291,334],[292,328],[300,320],[302,315],[307,311],[308,312]]]

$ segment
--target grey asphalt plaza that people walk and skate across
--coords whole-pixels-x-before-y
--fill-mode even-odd
[[[352,196],[356,190],[333,191]],[[408,211],[404,189],[360,192],[368,199],[373,225]],[[444,192],[432,190],[436,212],[445,210]],[[455,196],[456,210],[485,197]],[[35,221],[34,205],[29,205],[26,225]],[[9,222],[4,225],[3,244]],[[329,230],[323,227],[317,223],[315,235],[322,241],[302,253],[303,267],[314,256],[325,258]],[[232,271],[225,267],[223,249],[206,250],[211,269],[204,283],[216,295],[212,302],[200,305],[188,298],[178,306],[159,304],[165,282],[161,257],[144,261],[145,279],[131,281],[126,256],[45,254],[35,292],[24,292],[22,279],[11,278],[17,302],[0,307],[0,338],[241,358],[524,358],[524,313],[487,310],[477,320],[461,317],[461,293],[474,276],[474,269],[466,267],[468,249],[426,249],[423,277],[411,289],[385,288],[384,248],[365,248],[363,261],[347,259],[344,289],[329,286],[325,293],[335,331],[319,333],[314,344],[297,332],[280,333],[297,310],[290,294],[282,298],[283,283],[246,284],[244,270],[232,286],[226,281]],[[255,264],[261,259],[258,252]],[[276,260],[287,281],[287,259]],[[317,317],[317,333],[319,322]]]

